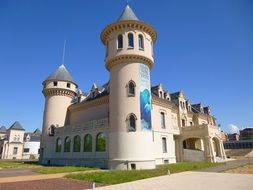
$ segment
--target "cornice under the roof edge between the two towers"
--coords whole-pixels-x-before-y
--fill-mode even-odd
[[[79,111],[82,109],[87,109],[87,108],[91,108],[91,107],[95,107],[95,106],[99,106],[102,104],[108,104],[109,103],[109,95],[98,98],[98,99],[94,99],[91,101],[84,101],[81,103],[77,103],[77,104],[72,104],[69,107],[70,111]]]

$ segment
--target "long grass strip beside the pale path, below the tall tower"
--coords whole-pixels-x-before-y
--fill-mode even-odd
[[[221,165],[222,163],[176,163],[158,166],[152,170],[113,170],[108,172],[94,172],[86,174],[69,174],[66,178],[84,180],[89,182],[103,183],[103,184],[119,184],[140,179],[146,179],[156,176],[166,175],[168,170],[170,173],[178,173],[183,171],[198,170],[208,167]]]

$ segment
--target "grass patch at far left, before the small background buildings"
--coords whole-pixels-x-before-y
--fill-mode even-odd
[[[14,162],[14,161],[1,161],[0,169],[11,168],[35,168],[41,167],[37,162]]]

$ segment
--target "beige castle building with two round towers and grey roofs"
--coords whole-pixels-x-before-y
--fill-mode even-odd
[[[64,65],[49,75],[43,82],[42,164],[152,169],[225,161],[210,107],[191,104],[182,91],[151,87],[156,37],[127,5],[101,33],[109,82],[84,93]]]

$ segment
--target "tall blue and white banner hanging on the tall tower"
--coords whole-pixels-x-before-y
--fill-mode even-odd
[[[151,126],[151,92],[150,74],[148,66],[140,64],[140,109],[141,109],[141,129],[150,131]]]

